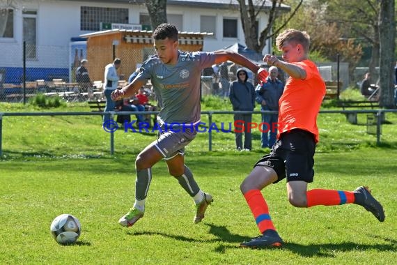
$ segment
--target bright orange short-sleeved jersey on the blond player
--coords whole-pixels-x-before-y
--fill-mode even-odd
[[[306,79],[288,78],[283,95],[279,100],[279,130],[281,133],[292,129],[308,130],[318,142],[317,115],[325,96],[325,82],[318,72],[316,64],[304,60],[293,63],[304,68]]]

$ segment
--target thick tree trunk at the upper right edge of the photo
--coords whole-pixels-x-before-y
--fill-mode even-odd
[[[396,108],[394,103],[394,51],[396,20],[394,0],[380,1],[380,107]]]

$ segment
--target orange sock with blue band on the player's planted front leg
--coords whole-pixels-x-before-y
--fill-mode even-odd
[[[269,215],[269,208],[260,190],[249,190],[244,194],[244,198],[254,215],[260,233],[263,234],[267,229],[276,230]]]

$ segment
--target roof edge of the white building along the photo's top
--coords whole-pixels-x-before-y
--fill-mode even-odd
[[[61,0],[61,1],[79,1],[81,0]],[[130,4],[144,4],[143,0],[95,0],[91,2],[102,2],[102,3],[130,3]],[[167,6],[192,6],[192,7],[201,7],[201,8],[238,8],[239,4],[237,0],[168,0]],[[256,5],[256,7],[260,7],[260,5]],[[264,8],[270,9],[272,7],[271,1],[265,1]],[[281,10],[288,11],[290,10],[290,6],[285,4],[281,4],[279,8]]]

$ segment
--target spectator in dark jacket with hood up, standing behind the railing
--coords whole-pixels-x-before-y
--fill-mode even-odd
[[[237,80],[230,86],[229,98],[233,105],[233,110],[254,110],[255,107],[255,88],[248,80],[247,70],[239,68],[237,70]],[[235,144],[238,150],[251,150],[251,128],[248,123],[252,122],[252,114],[235,114]],[[244,146],[242,145],[242,132],[244,131]]]

